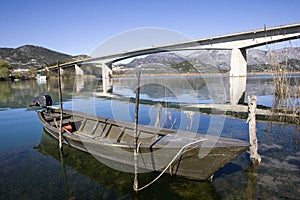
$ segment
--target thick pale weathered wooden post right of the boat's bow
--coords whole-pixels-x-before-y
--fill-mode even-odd
[[[253,166],[259,165],[261,157],[258,154],[258,142],[256,137],[256,96],[248,96],[248,119],[249,123],[249,140],[250,140],[250,160]]]

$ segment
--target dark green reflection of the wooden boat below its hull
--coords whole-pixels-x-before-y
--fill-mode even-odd
[[[46,131],[41,134],[40,143],[35,147],[40,153],[51,156],[58,162],[62,162],[62,167],[68,166],[86,177],[92,182],[99,184],[100,190],[105,188],[108,193],[117,192],[121,197],[119,199],[135,199],[136,192],[132,190],[132,180],[134,174],[114,170],[95,159],[91,154],[80,151],[70,146],[65,146],[63,154],[60,157],[57,150],[57,141]],[[59,170],[58,173],[61,173]],[[68,173],[68,172],[67,172]],[[74,173],[72,173],[74,174]],[[157,176],[156,172],[139,174],[139,183],[144,185]],[[76,176],[64,176],[68,180],[65,183],[71,183],[74,187],[73,178]],[[80,184],[88,184],[82,182]],[[77,184],[77,185],[80,185]],[[193,188],[191,190],[191,188]],[[99,195],[107,195],[107,192],[99,192]],[[183,178],[173,179],[165,175],[160,181],[153,184],[151,190],[143,190],[138,194],[139,199],[199,199],[199,194],[205,199],[221,199],[216,192],[213,184],[209,181],[192,181]],[[73,194],[74,195],[74,194]],[[80,194],[79,194],[80,195]],[[69,195],[70,197],[71,195]],[[76,197],[76,199],[80,197]],[[107,199],[107,196],[97,197]]]

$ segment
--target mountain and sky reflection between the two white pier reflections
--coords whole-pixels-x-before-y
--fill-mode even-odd
[[[222,76],[212,77],[142,77],[141,99],[180,103],[226,103]],[[135,79],[114,80],[113,93],[133,97]],[[228,88],[227,88],[228,90]]]

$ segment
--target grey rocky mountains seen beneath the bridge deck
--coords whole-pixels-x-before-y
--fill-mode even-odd
[[[260,49],[247,50],[248,72],[270,72],[272,63],[289,64],[291,71],[300,71],[300,47],[283,48],[272,51]],[[176,53],[157,53],[143,58],[136,58],[127,64],[121,64],[122,69],[143,67],[147,71],[167,73],[216,73],[230,70],[230,50],[200,50],[188,55]]]

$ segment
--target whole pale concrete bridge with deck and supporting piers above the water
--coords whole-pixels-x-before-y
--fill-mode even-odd
[[[103,86],[107,85],[107,79],[113,74],[112,64],[127,58],[148,55],[159,52],[184,51],[184,50],[231,50],[230,61],[230,102],[237,104],[246,90],[247,55],[246,50],[266,44],[288,41],[300,38],[300,23],[282,25],[272,28],[264,27],[258,30],[203,38],[187,42],[169,44],[158,47],[149,47],[139,50],[116,52],[96,58],[72,61],[60,64],[62,69],[75,67],[76,74],[83,75],[81,64],[97,61],[102,68]],[[48,70],[56,70],[57,66]]]

